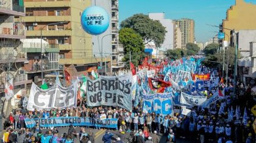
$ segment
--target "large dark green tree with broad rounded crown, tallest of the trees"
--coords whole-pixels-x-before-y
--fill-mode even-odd
[[[160,47],[165,40],[165,27],[159,22],[149,18],[148,15],[136,14],[121,22],[121,28],[132,28],[144,41],[144,44],[154,41]]]

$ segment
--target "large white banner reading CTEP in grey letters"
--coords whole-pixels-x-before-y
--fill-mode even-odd
[[[51,110],[51,108],[70,108],[76,107],[77,81],[69,87],[54,85],[48,90],[42,90],[32,83],[27,110]]]

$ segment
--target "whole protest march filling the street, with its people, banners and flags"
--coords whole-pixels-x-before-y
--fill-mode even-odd
[[[145,58],[124,75],[82,75],[68,87],[56,82],[45,90],[32,84],[26,107],[10,113],[3,141],[94,142],[84,128],[104,128],[104,142],[115,134],[116,142],[158,143],[159,135],[165,142],[255,141],[255,97],[233,95],[239,84],[224,84],[218,69],[202,61],[188,56],[152,64]],[[59,135],[61,127],[68,133]]]

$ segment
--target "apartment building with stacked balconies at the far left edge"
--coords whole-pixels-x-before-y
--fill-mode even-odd
[[[23,70],[27,56],[22,52],[20,39],[25,39],[26,36],[23,22],[14,21],[19,16],[25,16],[23,1],[0,1],[0,99],[5,97],[5,83],[10,79],[13,79],[15,96],[26,94],[26,85],[32,82],[27,80],[27,74]],[[0,111],[4,107],[8,115],[7,108],[10,110],[10,104],[0,106]]]

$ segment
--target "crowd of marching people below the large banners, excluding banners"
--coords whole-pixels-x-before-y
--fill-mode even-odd
[[[94,142],[93,132],[85,132],[81,127],[77,133],[72,125],[68,133],[59,135],[57,128],[49,128],[44,133],[43,128],[37,123],[34,128],[26,128],[25,118],[54,118],[54,117],[88,117],[99,119],[105,115],[107,118],[118,119],[119,133],[107,130],[103,136],[103,142],[111,142],[112,136],[116,135],[116,142],[160,142],[157,135],[165,135],[166,142],[175,142],[177,138],[197,139],[201,142],[255,142],[255,131],[252,123],[255,116],[251,114],[251,101],[247,101],[245,108],[248,111],[247,123],[243,121],[243,108],[239,116],[240,123],[237,123],[235,113],[230,121],[228,108],[235,108],[230,102],[231,97],[226,95],[221,101],[217,101],[210,108],[193,107],[190,116],[183,116],[180,113],[174,115],[160,116],[155,113],[144,113],[141,106],[127,111],[123,108],[94,107],[89,108],[84,101],[81,101],[77,108],[40,110],[40,111],[16,111],[10,113],[9,122],[11,127],[7,128],[3,136],[4,142],[73,142],[79,138],[80,142]],[[226,102],[224,113],[219,114],[221,102]]]

